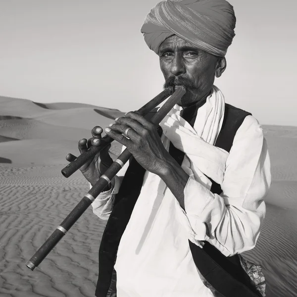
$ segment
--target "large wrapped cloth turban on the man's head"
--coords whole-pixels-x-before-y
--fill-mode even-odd
[[[225,56],[235,23],[233,6],[226,0],[165,0],[150,10],[141,32],[157,54],[166,38],[177,35],[198,49]]]

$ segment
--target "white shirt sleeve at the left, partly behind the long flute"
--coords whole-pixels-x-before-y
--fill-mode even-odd
[[[122,151],[124,151],[126,147],[122,147]],[[108,191],[101,192],[98,197],[92,203],[93,213],[96,214],[102,220],[108,220],[109,215],[113,208],[113,202],[115,195],[118,193],[124,175],[129,166],[129,161],[123,166],[123,168],[118,172],[118,174],[114,177],[114,186]],[[92,185],[90,184],[90,188]]]

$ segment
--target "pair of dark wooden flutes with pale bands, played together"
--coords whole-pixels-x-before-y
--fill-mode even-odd
[[[150,100],[147,104],[141,107],[137,112],[141,115],[146,115],[151,109],[158,106],[162,101],[168,99],[157,113],[151,118],[151,122],[158,125],[161,120],[166,116],[170,109],[181,99],[186,90],[182,86],[176,86],[173,93],[172,88],[165,89],[155,98]],[[74,161],[69,163],[62,169],[62,174],[65,177],[69,177],[76,170],[78,170],[83,164],[85,164],[90,158],[93,158],[101,149],[106,148],[111,142],[112,138],[104,136],[101,139],[101,145],[99,147],[92,146],[86,152],[78,156]],[[69,231],[74,223],[80,218],[80,216],[87,210],[92,202],[98,197],[98,195],[104,190],[104,188],[110,183],[110,180],[118,173],[118,171],[124,166],[124,164],[130,159],[132,154],[126,148],[118,158],[110,165],[110,167],[102,174],[98,182],[92,187],[92,189],[81,199],[81,201],[74,207],[64,221],[53,231],[46,242],[37,250],[37,252],[26,263],[26,266],[32,271],[45,259],[49,252],[55,247],[55,245],[61,240],[61,238]]]

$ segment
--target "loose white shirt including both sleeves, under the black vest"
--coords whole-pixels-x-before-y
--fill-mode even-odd
[[[114,188],[92,203],[101,219],[108,219],[127,167],[126,163],[118,173]],[[142,192],[156,193],[153,200],[137,200],[121,238],[115,263],[117,296],[212,297],[199,278],[188,239],[208,241],[226,256],[255,246],[265,216],[263,198],[271,183],[267,144],[258,121],[249,115],[238,129],[221,195],[189,177],[186,212],[165,184],[152,189],[146,182],[148,174]]]

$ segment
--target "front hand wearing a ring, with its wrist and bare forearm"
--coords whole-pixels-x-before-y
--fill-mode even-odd
[[[155,126],[136,112],[117,118],[105,129],[108,136],[121,143],[146,170],[157,174],[185,209],[184,189],[189,175],[164,148]],[[122,135],[129,129],[126,138]]]

